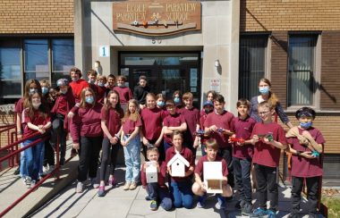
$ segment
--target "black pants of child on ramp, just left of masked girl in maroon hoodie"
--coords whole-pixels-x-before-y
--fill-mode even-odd
[[[60,159],[65,159],[66,136],[67,136],[67,133],[64,130],[64,115],[57,114],[55,117],[55,120],[52,122],[50,143],[52,147],[56,147],[57,139],[59,138]]]

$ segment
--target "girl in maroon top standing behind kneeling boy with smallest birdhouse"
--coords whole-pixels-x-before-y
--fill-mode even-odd
[[[154,145],[158,147],[161,160],[164,160],[165,152],[162,145],[163,132],[162,123],[165,118],[165,113],[156,107],[156,96],[148,93],[146,96],[147,107],[144,107],[141,112],[141,121],[143,127],[140,131],[140,138],[143,142],[143,154],[146,157],[147,147]]]

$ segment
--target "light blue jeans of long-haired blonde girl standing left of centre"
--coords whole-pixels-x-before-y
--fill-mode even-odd
[[[124,136],[124,140],[128,137]],[[124,149],[125,158],[125,180],[135,181],[140,180],[140,136],[132,138],[129,144]]]

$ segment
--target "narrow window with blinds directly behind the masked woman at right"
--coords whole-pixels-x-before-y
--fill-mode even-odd
[[[242,35],[240,38],[239,97],[259,95],[259,80],[266,76],[268,35]]]

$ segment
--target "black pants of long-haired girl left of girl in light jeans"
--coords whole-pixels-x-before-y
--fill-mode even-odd
[[[103,139],[101,155],[102,159],[100,164],[100,180],[105,180],[107,164],[110,165],[110,175],[115,173],[115,163],[117,161],[119,147],[121,147],[120,142],[112,145],[108,138]]]

